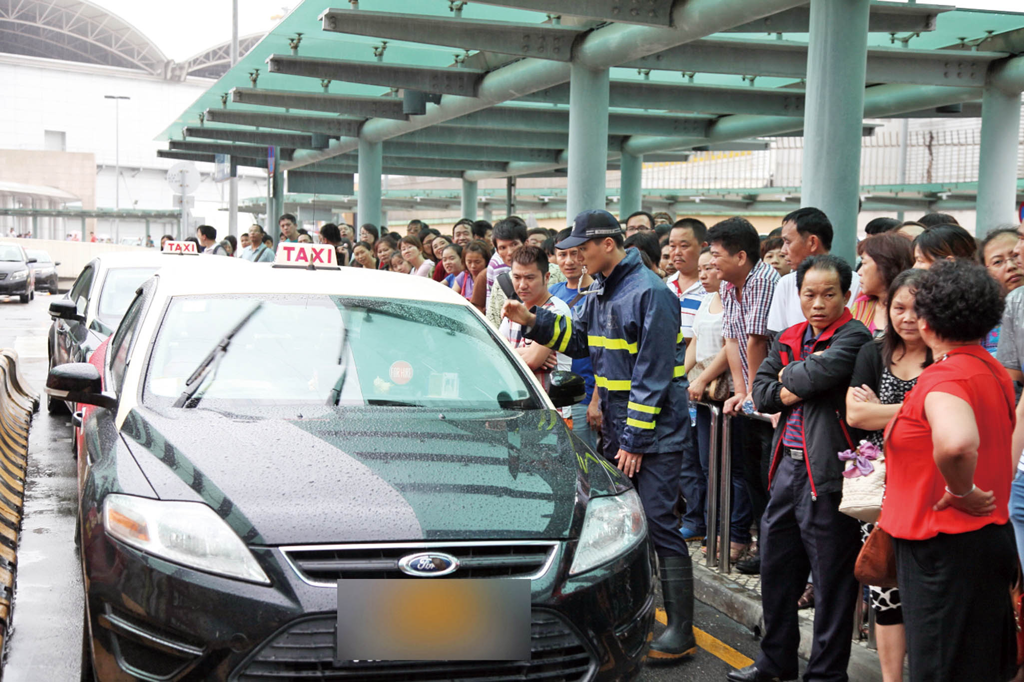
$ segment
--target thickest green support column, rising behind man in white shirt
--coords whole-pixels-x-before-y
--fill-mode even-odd
[[[850,263],[857,245],[869,5],[811,0],[807,50],[801,204],[825,212],[835,229],[831,251]]]

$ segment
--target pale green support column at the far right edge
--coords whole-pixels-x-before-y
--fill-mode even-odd
[[[987,86],[981,98],[981,153],[978,166],[978,216],[975,236],[1017,225],[1017,135],[1021,93]]]

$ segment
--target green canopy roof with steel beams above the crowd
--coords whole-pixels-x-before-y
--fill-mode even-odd
[[[564,61],[586,38],[614,28],[601,12],[618,3],[477,0],[458,11],[450,8],[459,4],[361,0],[357,8],[333,9],[326,0],[304,0],[158,136],[174,141],[161,155],[213,161],[217,151],[234,151],[236,163],[265,168],[265,154],[257,158],[254,145],[275,144],[286,169],[349,174],[355,138],[369,130],[367,122],[374,122],[378,135],[385,127],[377,122],[390,121],[397,128],[386,130],[398,134],[378,135],[389,174],[433,170],[433,177],[476,180],[564,167],[567,85],[524,86],[518,99],[414,131],[417,123],[409,132],[401,132],[403,121],[427,119],[401,112],[401,88],[428,93],[428,115],[435,108],[431,101],[470,100],[490,75],[523,71],[523,56]],[[757,18],[761,0],[749,4],[752,19],[741,29],[794,32],[726,31],[611,67],[609,160],[626,150],[690,149],[800,131],[807,7]],[[652,6],[658,13],[673,3]],[[577,7],[597,15],[568,16]],[[552,19],[555,8],[563,15]],[[1024,13],[892,2],[873,2],[871,12],[865,84],[872,95],[870,107],[865,96],[870,116],[938,117],[946,115],[935,110],[943,104],[973,107],[989,64],[1024,51]],[[665,26],[660,15],[628,18]],[[343,33],[346,26],[368,35]],[[503,34],[507,39],[498,40]],[[478,47],[489,51],[474,52]]]

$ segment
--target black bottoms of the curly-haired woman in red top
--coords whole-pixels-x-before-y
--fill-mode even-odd
[[[894,538],[912,682],[1006,682],[1017,672],[1010,584],[1017,547],[1010,524]],[[817,586],[815,586],[817,589]]]

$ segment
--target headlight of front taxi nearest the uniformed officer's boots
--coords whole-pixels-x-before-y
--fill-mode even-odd
[[[625,554],[646,535],[647,516],[635,490],[613,497],[593,498],[587,504],[569,574],[607,563]]]

